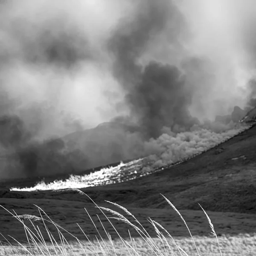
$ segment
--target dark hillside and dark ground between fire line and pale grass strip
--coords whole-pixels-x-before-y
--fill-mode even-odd
[[[140,221],[147,223],[150,216],[172,230],[175,236],[187,236],[180,228],[175,212],[160,195],[165,195],[172,204],[181,210],[189,222],[194,235],[207,235],[207,221],[203,221],[203,212],[198,203],[209,213],[215,230],[221,234],[239,234],[254,232],[256,225],[256,125],[233,137],[217,148],[193,157],[186,162],[134,180],[106,186],[81,189],[100,206],[106,206],[105,200],[127,207]],[[26,181],[22,181],[23,186]],[[29,183],[28,183],[29,184]],[[20,181],[12,181],[2,186],[19,186]],[[76,191],[8,191],[1,192],[0,205],[17,214],[38,215],[36,204],[44,209],[61,226],[81,233],[74,228],[76,222],[87,228],[89,235],[96,234],[90,224],[84,207],[96,219],[96,209],[90,200]],[[108,206],[109,207],[109,206]],[[75,210],[74,210],[75,209]],[[169,212],[169,213],[167,213]],[[2,233],[15,229],[17,238],[23,237],[23,228],[12,225],[12,217],[0,209]],[[173,219],[170,222],[170,218]],[[105,221],[104,224],[110,228]],[[88,226],[89,225],[89,226]],[[118,224],[125,234],[125,224]],[[200,228],[199,228],[200,226]],[[90,227],[90,228],[89,228]],[[149,230],[154,233],[154,230]],[[111,231],[113,237],[114,232]],[[136,233],[132,233],[136,236]]]

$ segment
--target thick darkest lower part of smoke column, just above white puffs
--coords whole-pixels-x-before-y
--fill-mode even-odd
[[[185,82],[175,66],[151,62],[145,67],[141,82],[127,99],[149,138],[159,137],[164,126],[190,128],[195,124],[188,111],[192,96]]]

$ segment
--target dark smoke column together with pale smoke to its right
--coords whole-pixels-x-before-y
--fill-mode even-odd
[[[247,106],[252,57],[236,2],[143,1],[137,17],[114,31],[113,74],[146,138],[159,137],[163,126],[189,131]]]

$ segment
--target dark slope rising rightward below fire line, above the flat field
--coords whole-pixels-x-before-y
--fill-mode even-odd
[[[127,182],[82,189],[96,202],[114,201],[132,207],[164,208],[159,193],[179,209],[256,213],[256,126],[192,159]],[[8,186],[17,183],[9,183]],[[3,197],[79,201],[76,194],[51,191],[6,192]],[[84,199],[83,199],[84,200]]]

